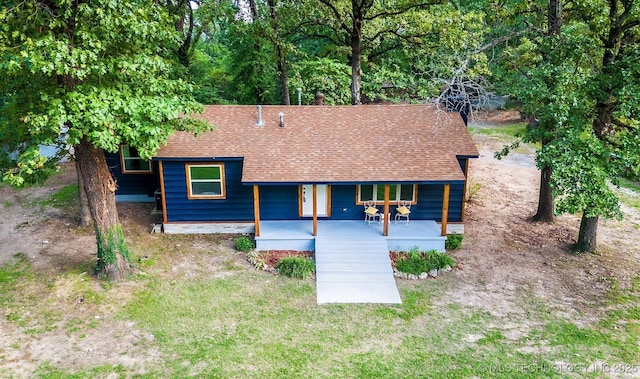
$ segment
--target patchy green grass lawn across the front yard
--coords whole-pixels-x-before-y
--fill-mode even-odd
[[[451,278],[400,282],[398,305],[319,306],[312,280],[247,267],[227,272],[171,280],[150,272],[129,285],[100,286],[75,269],[53,279],[34,275],[18,255],[0,268],[0,299],[6,322],[33,338],[56,327],[80,344],[92,338],[95,313],[64,318],[55,311],[55,301],[74,302],[78,295],[83,307],[112,309],[116,321],[132,321],[154,337],[138,342],[142,351],[158,354],[143,371],[116,363],[70,370],[41,362],[34,376],[42,378],[560,378],[575,375],[554,369],[557,362],[632,364],[640,356],[640,276],[631,288],[612,286],[600,322],[583,325],[559,316],[566,313],[528,286],[516,289],[516,313],[496,316],[463,298],[445,298],[457,286]],[[134,292],[123,303],[112,298],[115,291]],[[38,293],[41,298],[34,297]],[[25,316],[36,309],[41,315]]]

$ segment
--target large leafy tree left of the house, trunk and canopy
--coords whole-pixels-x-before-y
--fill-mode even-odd
[[[186,117],[201,107],[172,77],[174,23],[151,0],[27,0],[0,11],[0,144],[14,153],[3,179],[42,179],[55,160],[38,145],[71,146],[95,227],[97,273],[112,280],[131,269],[131,256],[104,151],[127,144],[150,159],[174,130],[207,128]]]

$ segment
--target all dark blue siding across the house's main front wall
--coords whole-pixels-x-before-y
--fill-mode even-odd
[[[220,162],[220,161],[216,161]],[[163,161],[164,191],[168,222],[253,221],[253,188],[243,185],[242,162],[225,161],[226,199],[189,200],[187,198],[186,162]],[[464,162],[461,162],[464,165]],[[443,184],[418,186],[418,202],[411,208],[413,220],[442,220]],[[449,194],[450,222],[462,220],[463,184],[452,184]],[[297,185],[260,186],[261,220],[297,220],[299,198]],[[382,206],[380,205],[380,210]],[[393,215],[396,206],[390,207]],[[332,220],[363,219],[363,207],[356,204],[355,185],[331,186]]]

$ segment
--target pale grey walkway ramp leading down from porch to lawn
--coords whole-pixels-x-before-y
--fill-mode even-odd
[[[400,304],[386,239],[357,237],[353,233],[316,237],[318,304]]]

